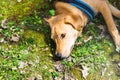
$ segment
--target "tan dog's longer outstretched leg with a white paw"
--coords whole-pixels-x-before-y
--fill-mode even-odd
[[[109,30],[109,32],[110,32],[110,34],[115,42],[116,51],[120,52],[120,35],[119,35],[119,32],[116,28],[114,21],[113,21],[113,17],[112,17],[112,13],[117,16],[116,13],[119,13],[119,12],[116,11],[116,9],[114,9],[112,6],[111,6],[111,10],[112,10],[112,12],[111,12],[111,10],[109,8],[109,4],[107,2],[103,2],[102,6],[99,9],[100,9],[100,12],[102,13],[105,21],[106,21],[106,24],[108,26],[108,30]],[[114,10],[116,12],[113,12]]]

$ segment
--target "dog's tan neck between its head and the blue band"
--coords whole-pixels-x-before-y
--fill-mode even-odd
[[[85,26],[89,21],[89,16],[85,14],[82,10],[78,9],[75,6],[72,6],[65,2],[56,2],[55,3],[56,15],[70,15],[70,16],[77,16],[82,19],[82,26]],[[80,22],[78,22],[80,23]]]

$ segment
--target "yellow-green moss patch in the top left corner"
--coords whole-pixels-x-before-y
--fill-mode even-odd
[[[21,18],[40,9],[44,0],[1,0],[0,13],[4,17]]]

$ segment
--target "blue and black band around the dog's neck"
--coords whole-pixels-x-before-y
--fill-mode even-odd
[[[77,8],[79,8],[80,10],[82,10],[83,12],[85,12],[90,21],[93,20],[94,16],[95,16],[95,11],[85,2],[83,2],[82,0],[62,0],[63,2],[67,2]]]

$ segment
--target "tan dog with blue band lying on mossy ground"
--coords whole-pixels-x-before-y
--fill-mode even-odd
[[[88,15],[84,10],[72,5],[70,1],[82,1],[93,13],[101,13],[107,24],[116,46],[116,51],[120,51],[120,35],[113,21],[112,15],[120,18],[120,11],[113,7],[108,0],[63,0],[54,4],[56,15],[45,19],[51,29],[51,38],[56,43],[55,55],[58,58],[67,58],[75,44],[76,39],[82,33],[84,26],[92,19],[93,15]],[[78,2],[79,3],[79,2]],[[76,3],[77,4],[77,3]]]

